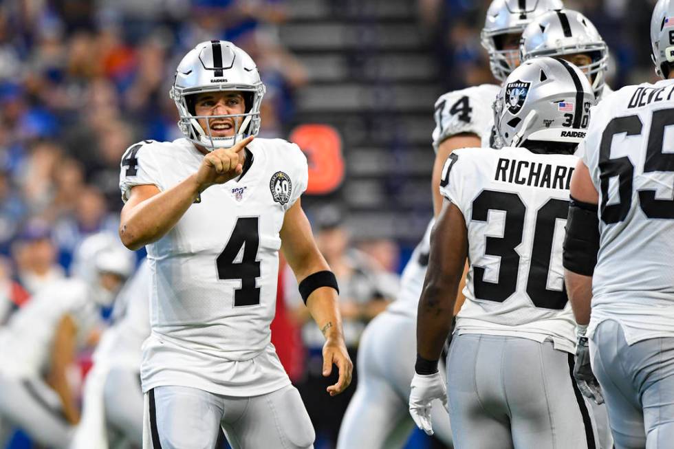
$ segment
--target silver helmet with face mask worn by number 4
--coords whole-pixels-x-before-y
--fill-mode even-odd
[[[221,116],[196,116],[195,96],[202,92],[238,91],[246,103],[246,112]],[[260,131],[260,106],[265,85],[257,66],[246,52],[228,41],[199,43],[182,58],[175,71],[169,95],[180,114],[178,127],[191,142],[213,151],[230,148],[249,135]],[[206,119],[206,129],[197,120]],[[232,118],[235,135],[214,136],[208,120]]]

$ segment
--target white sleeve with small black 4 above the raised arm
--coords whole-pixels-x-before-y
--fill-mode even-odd
[[[164,190],[160,167],[157,166],[153,155],[153,146],[157,142],[144,140],[129,146],[124,151],[120,164],[120,190],[122,201],[127,202],[133,186],[153,184]]]

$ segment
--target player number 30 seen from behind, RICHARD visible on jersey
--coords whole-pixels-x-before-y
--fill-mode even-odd
[[[432,401],[440,399],[459,448],[490,448],[494,441],[500,448],[598,445],[591,410],[571,375],[576,323],[561,267],[573,153],[592,104],[589,81],[574,65],[554,58],[523,63],[494,105],[505,147],[461,149],[444,166],[409,409],[430,433]],[[567,105],[574,116],[569,128]],[[466,302],[443,379],[437,364],[466,258]]]

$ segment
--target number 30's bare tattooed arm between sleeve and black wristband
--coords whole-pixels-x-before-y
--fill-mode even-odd
[[[452,326],[456,296],[468,254],[466,221],[444,201],[431,233],[431,254],[417,310],[417,353],[438,360]]]

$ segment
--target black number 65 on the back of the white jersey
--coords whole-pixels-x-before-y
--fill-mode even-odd
[[[664,153],[664,130],[674,125],[674,109],[660,109],[653,111],[651,129],[649,131],[644,173],[653,171],[674,172],[674,153]],[[627,218],[632,206],[632,190],[634,178],[634,164],[629,157],[611,158],[613,136],[626,134],[627,136],[641,135],[644,124],[637,115],[616,117],[608,124],[599,146],[599,179],[602,191],[600,206],[601,219],[606,224],[619,223]],[[608,204],[609,182],[618,177],[617,204]],[[639,206],[644,215],[651,219],[674,219],[674,199],[655,199],[655,190],[642,188],[639,191]]]

